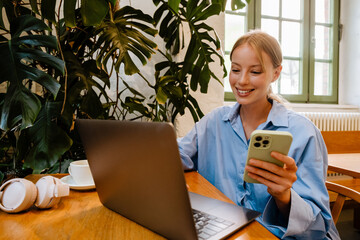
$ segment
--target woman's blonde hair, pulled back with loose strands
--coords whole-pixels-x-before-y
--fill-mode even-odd
[[[233,52],[236,48],[248,44],[251,46],[262,67],[263,71],[266,71],[264,59],[262,57],[262,52],[266,53],[271,60],[271,63],[274,68],[281,66],[282,63],[282,51],[279,42],[270,34],[263,32],[261,30],[252,30],[244,35],[242,35],[234,44],[230,52],[230,60],[232,60]],[[287,102],[283,97],[273,93],[271,86],[268,91],[268,98],[276,100],[280,103]]]

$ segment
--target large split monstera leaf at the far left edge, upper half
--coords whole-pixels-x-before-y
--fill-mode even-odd
[[[48,67],[64,71],[62,60],[48,54],[56,48],[53,36],[26,35],[25,32],[47,30],[48,27],[31,15],[15,18],[10,23],[11,39],[0,43],[0,82],[8,82],[8,90],[1,111],[0,128],[13,128],[21,119],[21,128],[33,124],[40,111],[38,97],[25,87],[26,81],[36,81],[54,98],[60,84],[42,69]],[[25,34],[25,35],[24,35]]]

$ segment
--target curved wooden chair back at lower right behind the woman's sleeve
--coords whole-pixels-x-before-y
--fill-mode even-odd
[[[328,191],[337,193],[336,200],[331,209],[331,215],[334,219],[334,223],[336,224],[339,219],[346,198],[350,198],[360,203],[360,192],[329,181],[326,181],[325,184]]]

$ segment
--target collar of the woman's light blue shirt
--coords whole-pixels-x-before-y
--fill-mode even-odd
[[[275,100],[271,100],[272,102],[272,107],[269,113],[269,116],[266,120],[266,122],[264,123],[264,126],[267,126],[269,123],[271,123],[274,126],[278,126],[278,127],[288,127],[289,126],[289,118],[288,118],[288,112],[286,107],[275,101]],[[235,120],[238,115],[239,115],[239,110],[240,110],[240,104],[236,103],[231,110],[224,115],[223,117],[223,121],[230,121],[232,122],[233,120]],[[284,117],[286,116],[286,117]]]

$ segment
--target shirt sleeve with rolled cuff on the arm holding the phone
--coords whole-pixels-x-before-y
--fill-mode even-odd
[[[283,238],[327,239],[333,227],[325,186],[327,151],[318,134],[309,139],[298,162],[298,180],[291,189],[289,220],[279,218],[281,214],[273,198],[264,209],[264,222],[279,228]],[[333,237],[337,239],[338,236]]]

